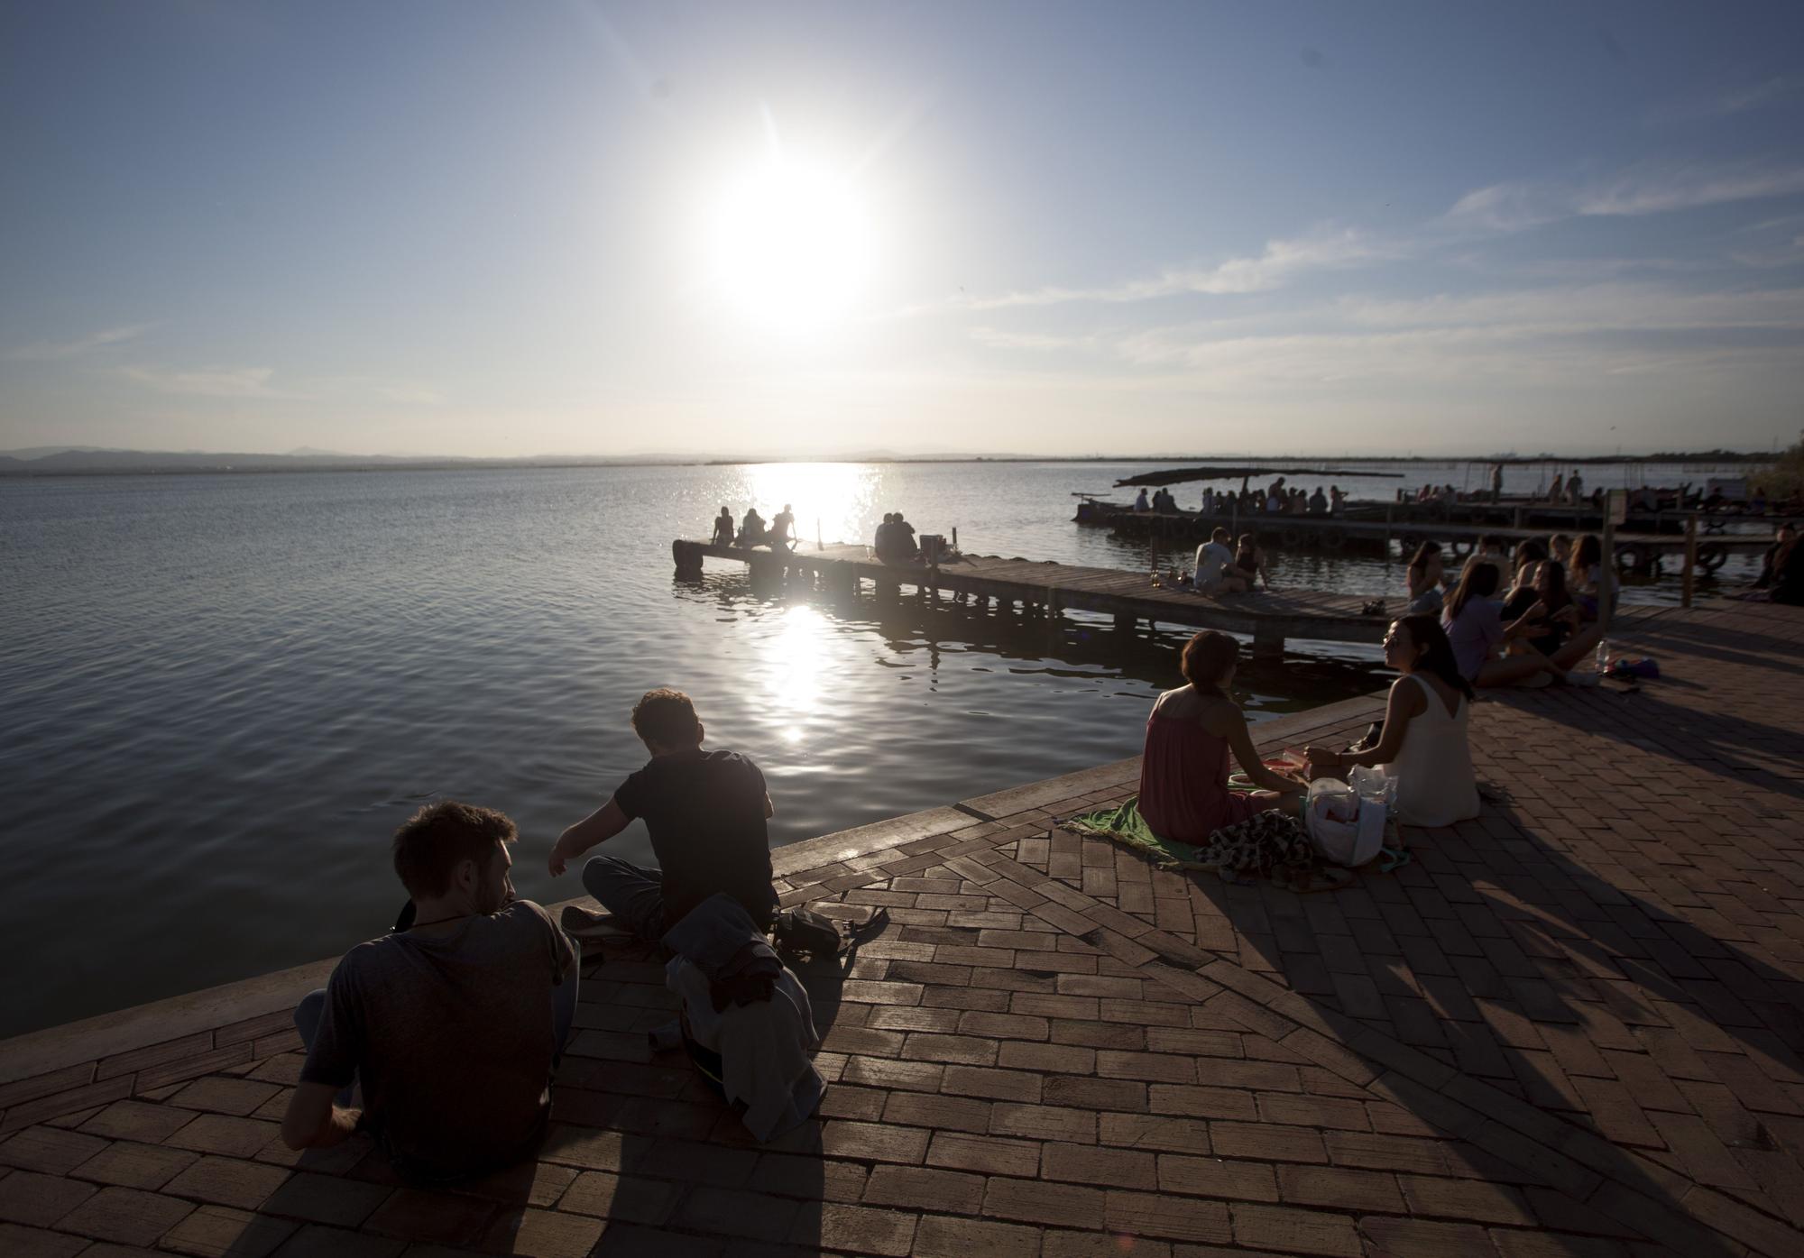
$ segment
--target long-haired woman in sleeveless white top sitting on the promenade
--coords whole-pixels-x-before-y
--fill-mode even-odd
[[[1376,766],[1396,779],[1396,820],[1452,825],[1477,816],[1467,717],[1472,685],[1434,616],[1404,616],[1384,638],[1384,661],[1402,672],[1384,710],[1384,737],[1367,752],[1304,748],[1319,770]]]

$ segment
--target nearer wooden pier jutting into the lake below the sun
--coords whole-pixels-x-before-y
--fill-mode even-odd
[[[682,539],[671,542],[671,555],[678,577],[698,577],[704,559],[725,559],[747,564],[754,579],[799,575],[848,597],[871,582],[879,593],[913,586],[929,595],[1019,604],[1023,611],[1052,618],[1064,611],[1090,611],[1113,616],[1120,627],[1144,620],[1221,629],[1252,636],[1254,654],[1261,658],[1283,654],[1290,638],[1376,643],[1389,624],[1389,616],[1364,615],[1360,609],[1367,600],[1357,595],[1275,589],[1203,597],[1185,588],[1153,586],[1151,573],[999,555],[953,555],[925,564],[877,559],[866,546],[842,542],[772,552],[769,546],[714,546]]]

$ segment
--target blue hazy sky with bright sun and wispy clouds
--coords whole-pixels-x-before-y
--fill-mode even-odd
[[[0,7],[0,449],[1770,449],[1804,5]]]

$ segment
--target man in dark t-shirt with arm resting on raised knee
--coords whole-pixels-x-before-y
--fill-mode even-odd
[[[704,899],[727,894],[767,926],[778,894],[770,887],[765,827],[776,809],[765,775],[738,752],[702,750],[702,721],[682,690],[648,692],[633,706],[633,732],[651,759],[557,838],[552,878],[595,843],[644,820],[657,869],[615,856],[595,856],[583,867],[583,887],[603,908],[639,937],[658,941]]]

